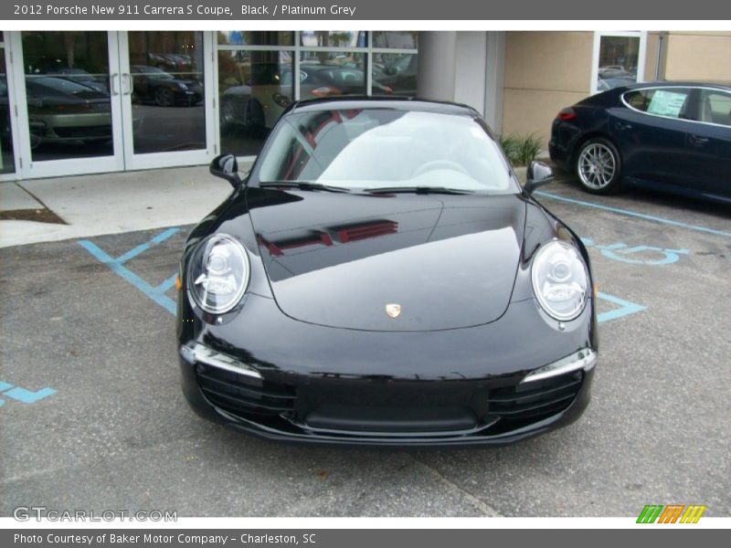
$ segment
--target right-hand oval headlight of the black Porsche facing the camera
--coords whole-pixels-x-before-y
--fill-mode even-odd
[[[566,242],[554,240],[533,258],[533,292],[541,308],[558,321],[576,318],[588,297],[588,272],[584,260]]]

